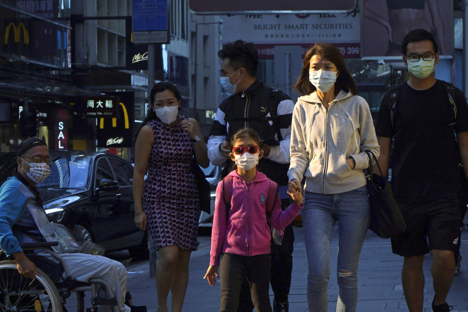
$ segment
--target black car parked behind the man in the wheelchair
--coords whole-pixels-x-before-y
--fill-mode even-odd
[[[134,222],[132,165],[98,152],[50,154],[51,174],[37,184],[49,219],[106,252],[129,249],[131,256],[147,257],[146,234]]]

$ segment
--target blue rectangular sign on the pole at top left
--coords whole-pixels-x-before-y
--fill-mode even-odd
[[[168,0],[132,0],[134,43],[169,43]]]

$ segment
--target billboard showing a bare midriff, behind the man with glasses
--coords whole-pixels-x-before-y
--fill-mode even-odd
[[[447,0],[364,0],[362,57],[401,59],[401,41],[412,29],[423,28],[434,34],[439,54],[453,54],[452,1]]]

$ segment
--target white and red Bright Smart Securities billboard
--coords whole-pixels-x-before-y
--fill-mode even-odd
[[[223,28],[223,44],[254,42],[260,59],[273,59],[277,45],[300,45],[304,55],[315,42],[334,44],[345,58],[360,57],[356,14],[234,15],[223,17]]]

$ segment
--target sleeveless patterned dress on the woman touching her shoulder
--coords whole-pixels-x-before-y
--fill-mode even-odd
[[[169,126],[156,118],[147,124],[154,142],[148,159],[148,177],[143,191],[143,210],[156,249],[164,246],[195,251],[200,204],[192,173],[194,148],[179,122]]]

